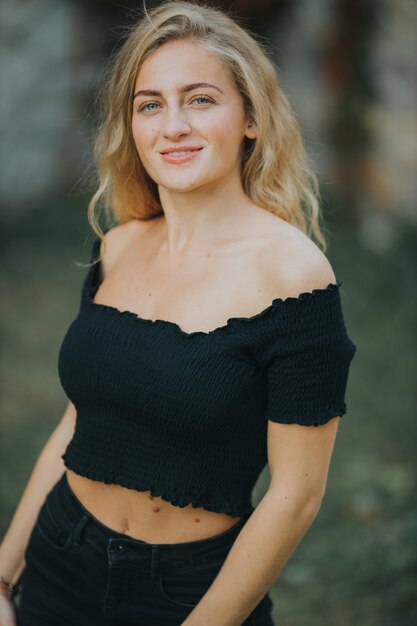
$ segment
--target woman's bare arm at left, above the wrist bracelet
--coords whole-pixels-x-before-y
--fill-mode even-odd
[[[43,501],[65,471],[61,454],[72,438],[76,409],[68,403],[58,426],[40,453],[10,526],[0,545],[0,575],[16,583],[24,570],[24,552]],[[10,596],[0,589],[0,593]]]

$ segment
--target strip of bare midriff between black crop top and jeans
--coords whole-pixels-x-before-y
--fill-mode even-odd
[[[221,534],[240,517],[195,508],[179,507],[120,485],[91,480],[67,469],[68,484],[85,509],[108,528],[148,543],[198,541]]]

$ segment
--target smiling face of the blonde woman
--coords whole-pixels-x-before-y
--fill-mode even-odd
[[[248,126],[241,95],[223,63],[200,44],[163,44],[136,79],[132,133],[149,176],[172,191],[241,179]]]

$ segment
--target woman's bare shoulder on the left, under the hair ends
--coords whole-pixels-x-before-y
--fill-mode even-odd
[[[102,277],[106,276],[113,263],[129,247],[134,240],[139,240],[149,230],[155,220],[132,219],[124,224],[117,224],[104,235],[104,241],[100,243],[100,256]]]

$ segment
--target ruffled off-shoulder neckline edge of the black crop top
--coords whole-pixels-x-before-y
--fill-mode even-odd
[[[268,305],[267,307],[259,311],[259,313],[255,313],[254,315],[251,315],[249,317],[238,317],[238,316],[229,317],[228,320],[225,322],[225,324],[222,324],[221,326],[217,326],[216,328],[213,328],[212,330],[208,330],[208,331],[195,330],[192,332],[187,332],[183,330],[181,326],[177,324],[176,322],[171,322],[169,320],[161,320],[161,319],[152,320],[150,318],[142,317],[140,314],[134,313],[133,311],[128,311],[128,310],[122,311],[121,309],[118,309],[117,307],[112,306],[110,304],[102,304],[99,302],[94,302],[94,295],[92,295],[91,291],[94,289],[94,294],[95,294],[98,291],[98,288],[100,287],[100,284],[95,284],[95,280],[94,280],[95,277],[97,276],[100,264],[101,264],[101,261],[99,261],[98,263],[96,263],[95,266],[90,268],[90,272],[89,272],[90,280],[86,281],[86,290],[87,290],[87,299],[88,299],[87,302],[88,302],[90,309],[95,309],[97,311],[102,311],[106,314],[116,315],[118,317],[132,318],[140,324],[145,324],[145,325],[154,326],[154,327],[160,326],[160,327],[166,328],[167,330],[174,330],[175,332],[187,338],[197,337],[197,336],[207,337],[215,333],[227,331],[232,327],[232,325],[236,323],[245,323],[245,324],[253,323],[256,320],[259,320],[267,316],[270,312],[275,310],[277,307],[299,305],[300,303],[309,301],[314,297],[317,297],[317,296],[320,297],[320,296],[325,295],[326,293],[337,291],[343,285],[343,282],[336,277],[336,282],[329,283],[327,287],[318,287],[316,289],[313,289],[312,291],[303,291],[298,296],[289,296],[288,298],[274,298],[270,305]]]

